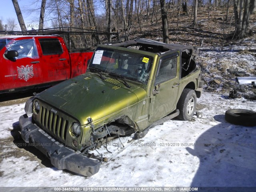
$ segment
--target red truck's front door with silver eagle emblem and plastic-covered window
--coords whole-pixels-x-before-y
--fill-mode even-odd
[[[7,50],[16,50],[18,57],[6,58],[1,55],[2,78],[4,90],[42,83],[42,74],[36,44],[33,38],[13,40]]]

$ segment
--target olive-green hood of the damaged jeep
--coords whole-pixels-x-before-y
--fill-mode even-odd
[[[88,123],[88,117],[95,121],[138,102],[134,94],[136,89],[139,89],[136,93],[146,95],[140,86],[129,84],[131,88],[126,88],[122,81],[114,78],[101,80],[97,74],[86,73],[53,86],[36,98],[52,105],[54,110],[62,110],[84,125]]]

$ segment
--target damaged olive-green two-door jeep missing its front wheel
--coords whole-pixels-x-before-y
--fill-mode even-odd
[[[176,116],[192,118],[203,86],[197,54],[193,46],[148,39],[98,45],[85,74],[26,102],[22,139],[58,169],[96,174],[103,157],[91,150],[127,134],[142,138]]]

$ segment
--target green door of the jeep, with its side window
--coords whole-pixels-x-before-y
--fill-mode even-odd
[[[179,90],[179,53],[162,56],[158,60],[155,83],[151,88],[149,122],[168,115],[175,108]]]

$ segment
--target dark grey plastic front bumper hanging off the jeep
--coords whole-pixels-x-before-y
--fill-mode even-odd
[[[20,116],[19,122],[22,139],[27,143],[33,143],[33,146],[50,158],[52,165],[56,168],[66,169],[83,176],[92,176],[99,171],[101,162],[76,154],[64,146],[59,146],[44,136],[37,126],[32,124],[27,114]]]

